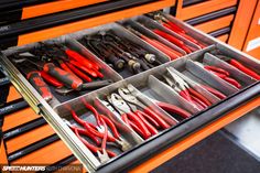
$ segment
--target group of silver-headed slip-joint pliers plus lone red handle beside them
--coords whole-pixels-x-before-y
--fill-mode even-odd
[[[118,93],[112,93],[107,96],[107,99],[119,112],[124,123],[144,140],[158,134],[160,130],[169,129],[178,122],[175,119],[164,119],[161,112],[141,101],[132,85],[128,85],[126,88],[118,88]],[[160,101],[156,104],[165,111],[178,113],[184,118],[191,117],[189,112],[176,106]]]

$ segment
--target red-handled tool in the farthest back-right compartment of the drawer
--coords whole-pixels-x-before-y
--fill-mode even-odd
[[[194,44],[198,45],[199,47],[204,48],[205,45],[197,40],[195,40],[193,36],[188,35],[188,33],[183,30],[177,24],[173,23],[172,21],[167,20],[165,17],[163,17],[162,13],[152,13],[153,19],[155,19],[158,22],[160,22],[163,26],[167,28],[169,30],[172,30],[173,32],[182,35],[183,37],[187,39],[188,41],[193,42]]]

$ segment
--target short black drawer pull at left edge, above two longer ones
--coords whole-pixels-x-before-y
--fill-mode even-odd
[[[0,117],[26,108],[28,106],[28,102],[23,98],[10,101],[0,107]]]

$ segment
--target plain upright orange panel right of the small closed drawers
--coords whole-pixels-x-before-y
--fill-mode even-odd
[[[228,44],[242,50],[258,0],[240,0]]]

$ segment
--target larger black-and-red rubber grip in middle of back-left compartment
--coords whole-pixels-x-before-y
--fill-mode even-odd
[[[62,82],[66,87],[73,88],[75,90],[82,89],[83,80],[80,78],[78,78],[74,74],[63,71],[59,67],[56,67],[53,63],[46,63],[43,66],[43,69],[44,72],[55,77],[57,80]]]

